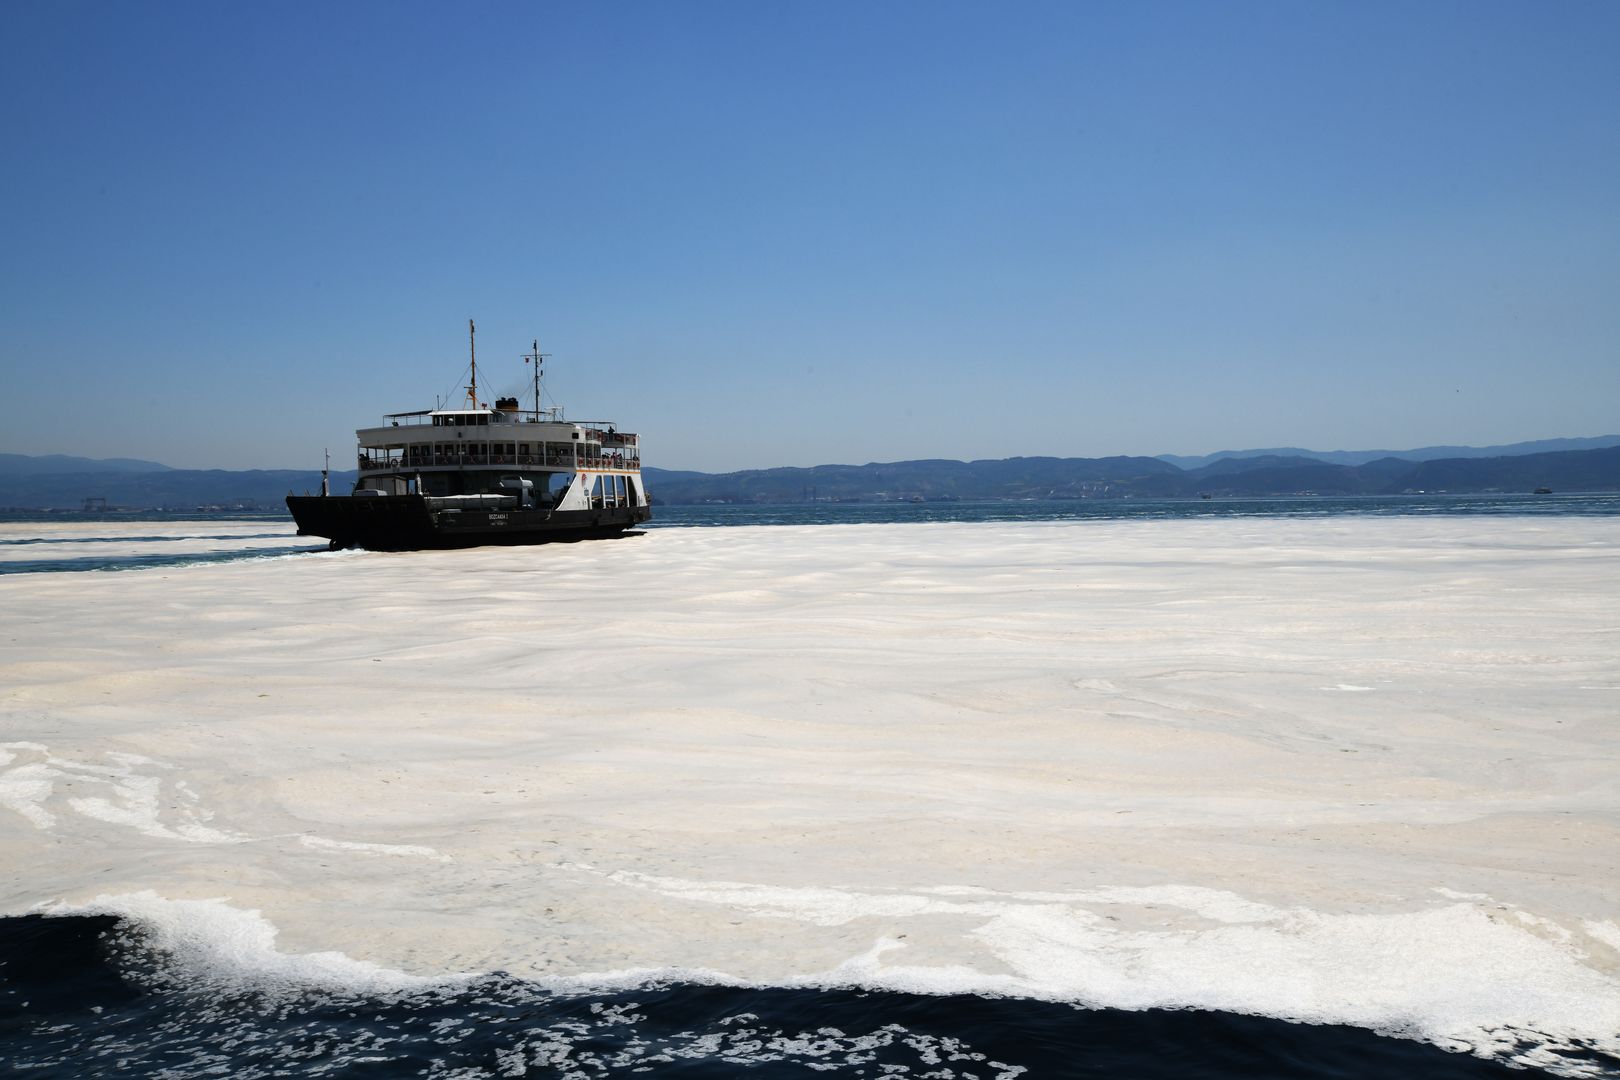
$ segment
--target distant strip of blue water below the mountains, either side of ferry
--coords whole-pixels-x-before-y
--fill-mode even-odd
[[[1620,517],[1620,494],[1591,495],[1379,495],[1281,499],[1092,499],[1030,502],[863,502],[795,505],[654,507],[645,528],[724,528],[734,525],[902,525],[922,521],[1165,521],[1187,518],[1325,518],[1325,517]],[[143,523],[193,525],[183,533],[143,533]],[[206,518],[175,513],[10,513],[0,523],[37,525],[37,534],[0,538],[0,575],[73,570],[139,570],[193,563],[237,562],[326,552],[321,538],[296,536],[285,513]],[[60,526],[73,523],[73,533]],[[262,529],[224,533],[227,525],[259,525]],[[84,525],[105,525],[104,533]],[[285,538],[285,544],[264,541]],[[219,551],[194,549],[194,541],[215,541]],[[251,541],[251,544],[249,544]],[[138,544],[143,551],[113,552],[110,544]],[[37,559],[28,549],[73,546]],[[105,551],[102,551],[105,549]]]

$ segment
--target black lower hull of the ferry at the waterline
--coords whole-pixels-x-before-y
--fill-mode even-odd
[[[421,495],[288,495],[287,508],[300,536],[324,536],[332,547],[366,551],[611,539],[653,517],[646,507],[436,510]]]

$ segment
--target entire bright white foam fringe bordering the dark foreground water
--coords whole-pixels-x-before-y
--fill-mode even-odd
[[[598,873],[588,866],[562,873]],[[1170,886],[1069,894],[1061,902],[972,891],[949,900],[859,889],[781,889],[645,874],[601,874],[619,884],[774,920],[910,920],[909,934],[878,936],[820,973],[742,978],[710,968],[625,968],[536,980],[561,993],[630,989],[693,981],[737,986],[854,986],[922,994],[1004,994],[1115,1009],[1210,1009],[1311,1023],[1351,1023],[1422,1038],[1481,1056],[1583,1075],[1552,1054],[1576,1041],[1620,1054],[1620,986],[1580,963],[1568,942],[1541,938],[1526,920],[1471,904],[1400,915],[1327,915],[1257,905],[1220,891]],[[957,891],[949,891],[957,892]],[[1087,907],[1092,905],[1092,907]],[[1132,929],[1110,905],[1152,905],[1215,915],[1217,926]],[[168,900],[151,891],[53,904],[50,915],[105,913],[139,925],[165,965],[190,980],[227,986],[389,994],[447,986],[468,976],[424,978],[340,952],[285,954],[256,910],[220,899]],[[928,939],[932,916],[974,920],[969,936],[1004,972],[966,963],[907,962]],[[1528,920],[1531,923],[1537,920]],[[1612,925],[1588,928],[1620,939]]]

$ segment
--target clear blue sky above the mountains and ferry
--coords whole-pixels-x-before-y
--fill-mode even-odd
[[[1620,3],[0,5],[0,450],[319,466],[533,337],[648,463],[1620,429]]]

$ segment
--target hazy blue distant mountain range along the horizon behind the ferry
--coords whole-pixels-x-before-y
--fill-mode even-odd
[[[1225,450],[1204,457],[889,461],[692,473],[648,468],[659,504],[792,504],[935,499],[1383,495],[1401,492],[1620,491],[1620,436],[1421,450]],[[355,473],[332,473],[347,492]],[[321,489],[318,470],[173,470],[133,458],[0,453],[0,507],[280,510]]]

